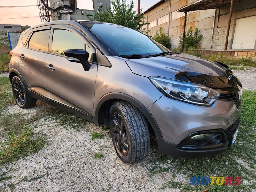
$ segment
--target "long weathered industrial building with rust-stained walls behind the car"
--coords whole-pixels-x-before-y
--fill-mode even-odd
[[[255,0],[161,0],[143,13],[149,34],[162,27],[172,48],[179,47],[180,36],[192,27],[203,34],[202,52],[226,50],[230,55],[255,57]]]

